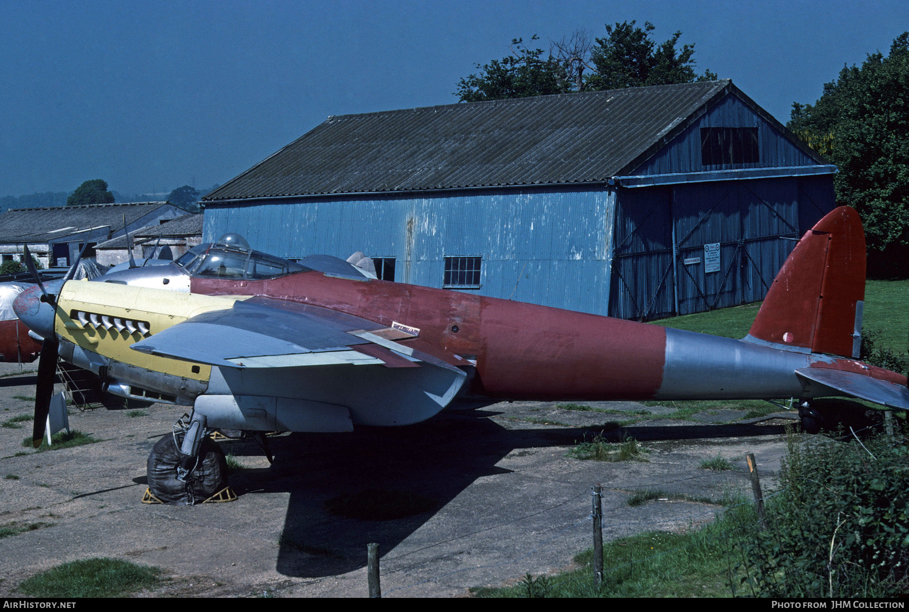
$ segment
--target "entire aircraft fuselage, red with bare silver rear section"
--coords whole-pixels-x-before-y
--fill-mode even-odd
[[[906,384],[905,376],[852,359],[754,346],[608,316],[494,297],[303,272],[269,280],[192,279],[193,293],[255,295],[397,321],[420,335],[402,344],[464,366],[476,360],[471,391],[514,399],[709,399],[798,396],[798,367],[858,371]],[[678,338],[684,336],[680,341]],[[441,349],[441,350],[440,350]]]

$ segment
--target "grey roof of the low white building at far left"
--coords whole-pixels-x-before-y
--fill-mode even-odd
[[[154,212],[167,202],[95,204],[50,208],[11,208],[0,214],[0,242],[47,242],[89,228],[110,227],[115,232]]]

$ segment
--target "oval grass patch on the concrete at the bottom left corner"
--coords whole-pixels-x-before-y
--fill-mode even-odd
[[[19,591],[33,597],[122,597],[154,587],[160,573],[120,559],[83,559],[30,577]]]

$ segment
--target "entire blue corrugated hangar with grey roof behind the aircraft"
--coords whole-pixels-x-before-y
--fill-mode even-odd
[[[205,240],[647,320],[762,299],[835,172],[730,80],[338,115],[205,196]]]

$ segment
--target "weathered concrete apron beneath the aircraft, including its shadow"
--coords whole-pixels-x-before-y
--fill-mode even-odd
[[[5,370],[18,366],[0,366]],[[34,374],[0,378],[0,420],[31,412],[32,402],[13,396],[34,396],[34,385]],[[725,490],[750,495],[744,454],[757,457],[766,490],[784,453],[779,425],[663,418],[629,430],[650,449],[649,462],[580,461],[565,453],[614,416],[503,403],[397,429],[276,436],[272,467],[255,443],[222,442],[245,466],[231,477],[239,500],[146,506],[139,502],[146,457],[184,409],[156,404],[135,417],[127,416],[130,409],[74,411],[71,426],[103,441],[44,453],[21,446],[30,422],[0,428],[0,526],[51,524],[0,539],[0,596],[15,595],[20,581],[49,567],[114,557],[161,567],[172,578],[142,594],[150,597],[365,597],[369,542],[380,544],[385,597],[465,596],[469,587],[570,567],[591,546],[594,483],[605,489],[606,540],[679,531],[711,520],[719,506],[666,500],[628,507],[628,494],[652,488],[717,500]],[[647,409],[661,416],[659,408]],[[770,435],[755,436],[764,432]],[[665,439],[689,435],[712,437]],[[739,470],[699,467],[717,454]],[[325,510],[326,500],[367,489],[414,492],[436,509],[387,521]]]

